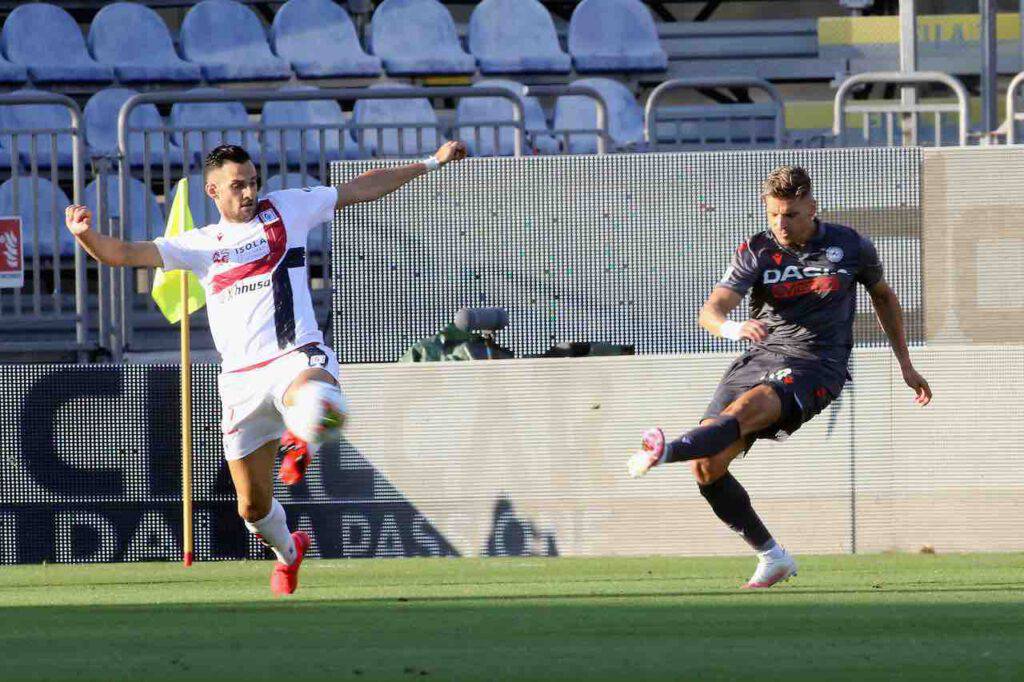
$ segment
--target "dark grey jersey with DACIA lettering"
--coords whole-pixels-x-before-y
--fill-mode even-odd
[[[751,317],[768,329],[754,344],[795,357],[841,363],[853,347],[853,317],[859,282],[882,280],[879,253],[856,230],[818,222],[803,251],[781,246],[771,230],[739,245],[719,287],[751,292]]]

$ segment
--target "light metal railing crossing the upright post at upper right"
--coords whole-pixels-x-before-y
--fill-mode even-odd
[[[856,104],[847,103],[850,92],[854,87],[872,83],[883,85],[945,85],[956,95],[956,103],[903,103],[896,100],[858,102]],[[961,83],[959,80],[949,74],[944,74],[938,71],[919,71],[911,73],[901,73],[897,71],[867,72],[851,76],[843,81],[843,84],[839,86],[839,90],[836,92],[834,105],[833,134],[836,136],[839,144],[845,146],[847,143],[846,115],[861,114],[863,115],[861,130],[864,136],[864,142],[870,143],[870,117],[872,114],[881,114],[885,121],[886,144],[893,145],[895,143],[895,116],[897,114],[910,117],[910,127],[912,130],[916,130],[918,128],[919,114],[931,114],[935,117],[935,146],[942,146],[942,115],[953,113],[959,115],[957,143],[963,146],[968,143],[968,134],[971,129],[971,114],[968,108],[969,97],[967,88],[964,87],[964,84]]]

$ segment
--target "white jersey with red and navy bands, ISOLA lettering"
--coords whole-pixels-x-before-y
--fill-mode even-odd
[[[221,221],[154,240],[165,270],[191,270],[206,290],[224,372],[323,343],[306,274],[309,231],[334,215],[334,187],[272,191],[249,222]]]

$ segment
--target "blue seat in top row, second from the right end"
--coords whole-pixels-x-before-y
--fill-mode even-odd
[[[567,74],[572,68],[537,0],[483,0],[469,19],[469,51],[482,74]]]

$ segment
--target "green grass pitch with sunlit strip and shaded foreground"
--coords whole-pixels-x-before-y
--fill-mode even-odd
[[[1021,680],[1024,554],[0,568],[2,680]]]

